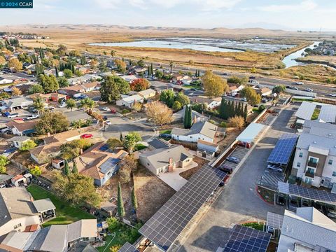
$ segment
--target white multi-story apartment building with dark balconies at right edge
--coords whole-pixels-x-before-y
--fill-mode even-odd
[[[306,186],[336,185],[336,125],[305,120],[291,175]]]

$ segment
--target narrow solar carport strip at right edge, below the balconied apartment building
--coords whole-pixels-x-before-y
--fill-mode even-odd
[[[323,190],[316,190],[313,188],[304,188],[290,183],[279,182],[279,193],[302,197],[307,200],[316,200],[318,202],[325,202],[336,204],[336,195],[334,193],[325,192]]]

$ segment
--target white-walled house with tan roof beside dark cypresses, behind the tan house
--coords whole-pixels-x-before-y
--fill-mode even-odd
[[[172,139],[197,143],[198,140],[214,143],[217,126],[209,122],[194,123],[190,130],[174,128]]]

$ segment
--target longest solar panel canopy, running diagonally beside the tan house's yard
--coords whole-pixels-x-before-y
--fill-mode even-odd
[[[141,235],[167,251],[225,176],[204,165],[140,228]]]

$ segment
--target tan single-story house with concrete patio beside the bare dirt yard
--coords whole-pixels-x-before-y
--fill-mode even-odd
[[[158,175],[161,172],[172,172],[174,169],[188,167],[193,163],[193,155],[183,146],[174,145],[141,153],[139,160],[141,165]]]

